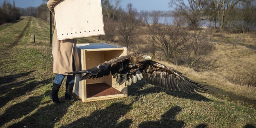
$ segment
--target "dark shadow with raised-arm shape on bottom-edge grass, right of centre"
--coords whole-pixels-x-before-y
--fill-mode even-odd
[[[175,116],[180,113],[182,108],[174,106],[161,116],[160,120],[147,121],[139,124],[140,128],[182,128],[185,127],[183,121],[176,120]]]

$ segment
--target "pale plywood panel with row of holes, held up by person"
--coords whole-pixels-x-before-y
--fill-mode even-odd
[[[58,40],[105,34],[100,0],[62,0],[54,10]]]

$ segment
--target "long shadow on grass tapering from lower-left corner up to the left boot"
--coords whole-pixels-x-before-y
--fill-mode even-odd
[[[4,112],[4,114],[0,116],[0,127],[12,119],[18,119],[38,108],[41,100],[45,97],[45,95],[48,95],[49,93],[50,91],[47,91],[43,95],[29,97],[23,102],[12,105]]]

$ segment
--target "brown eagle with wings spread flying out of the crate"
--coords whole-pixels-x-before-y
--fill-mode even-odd
[[[71,74],[71,73],[70,73]],[[90,69],[74,71],[73,74],[84,74],[82,80],[100,78],[112,74],[119,85],[131,85],[144,80],[165,90],[178,90],[186,93],[209,91],[206,85],[196,83],[172,67],[151,60],[143,53],[132,53],[105,61]]]

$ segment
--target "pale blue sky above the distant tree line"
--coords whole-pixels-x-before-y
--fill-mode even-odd
[[[0,0],[3,3],[4,0]],[[7,0],[12,3],[13,0]],[[26,8],[28,6],[39,6],[43,3],[43,0],[14,0],[17,7]],[[115,0],[112,0],[114,2]],[[168,3],[170,0],[122,0],[121,6],[125,8],[128,3],[132,3],[133,7],[140,10],[161,10],[167,11],[172,10]]]

